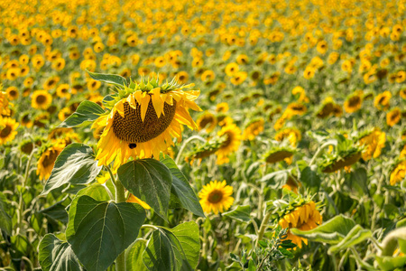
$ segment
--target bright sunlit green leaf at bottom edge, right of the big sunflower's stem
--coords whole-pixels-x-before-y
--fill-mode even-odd
[[[143,252],[149,270],[194,270],[198,265],[200,243],[198,225],[187,222],[173,229],[160,227],[152,233]]]

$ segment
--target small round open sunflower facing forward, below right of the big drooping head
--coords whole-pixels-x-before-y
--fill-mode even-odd
[[[215,214],[228,210],[233,205],[233,187],[223,182],[210,182],[198,192],[200,205],[205,212],[213,211]]]

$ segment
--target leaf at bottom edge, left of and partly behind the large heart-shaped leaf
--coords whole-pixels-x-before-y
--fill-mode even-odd
[[[42,270],[83,270],[68,242],[47,234],[40,243],[39,260]]]

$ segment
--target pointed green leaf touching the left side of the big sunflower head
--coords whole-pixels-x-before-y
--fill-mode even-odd
[[[85,100],[80,103],[76,112],[65,119],[58,127],[72,128],[87,126],[104,113],[105,110],[97,105],[97,103]]]

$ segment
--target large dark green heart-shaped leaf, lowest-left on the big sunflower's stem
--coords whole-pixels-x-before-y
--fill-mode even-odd
[[[105,270],[134,242],[144,220],[139,204],[80,196],[70,205],[66,237],[87,270]]]

